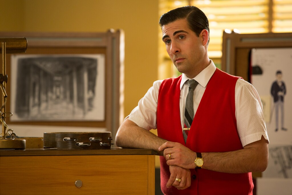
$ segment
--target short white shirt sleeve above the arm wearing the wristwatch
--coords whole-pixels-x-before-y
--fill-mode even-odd
[[[258,92],[242,79],[238,79],[235,86],[235,116],[242,146],[260,140],[262,135],[269,141]]]

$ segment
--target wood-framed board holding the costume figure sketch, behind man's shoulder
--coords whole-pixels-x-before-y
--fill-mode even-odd
[[[282,125],[277,129],[277,125],[275,125],[276,106],[272,102],[272,85],[278,71],[281,71],[283,82],[287,84],[287,87],[291,85],[292,33],[238,34],[223,32],[222,46],[222,70],[231,75],[241,76],[253,84],[263,103],[270,139],[269,165],[263,173],[253,172],[253,177],[257,177],[255,183],[257,194],[273,194],[271,191],[277,191],[279,194],[291,193],[291,191],[287,191],[292,181],[292,141],[289,120],[291,90],[287,89],[287,94],[284,94],[286,112],[280,114],[285,116],[284,125],[286,126],[283,128]],[[281,121],[280,117],[279,121]],[[277,185],[277,183],[281,183],[283,186]],[[267,186],[269,187],[267,188]]]

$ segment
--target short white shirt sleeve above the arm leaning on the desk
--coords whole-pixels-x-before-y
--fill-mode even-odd
[[[139,127],[146,130],[157,128],[156,113],[158,93],[161,83],[162,80],[155,81],[145,96],[140,99],[138,106],[136,106],[128,116],[129,120],[135,122]]]

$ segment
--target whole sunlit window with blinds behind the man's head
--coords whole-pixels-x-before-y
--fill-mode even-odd
[[[222,56],[222,34],[225,29],[237,30],[241,34],[292,32],[292,0],[160,0],[159,15],[187,5],[200,8],[208,17],[210,26],[208,54],[219,68]],[[163,43],[159,43],[159,53],[159,79],[179,75]],[[161,70],[163,74],[160,74]]]

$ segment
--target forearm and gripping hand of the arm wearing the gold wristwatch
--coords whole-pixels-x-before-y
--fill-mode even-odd
[[[182,168],[196,167],[194,160],[196,152],[182,144],[166,142],[159,147],[164,151],[168,165],[177,165]],[[171,153],[171,159],[168,154]],[[244,149],[230,152],[202,153],[204,164],[202,168],[225,173],[262,172],[267,168],[268,143],[264,137],[244,146]]]

